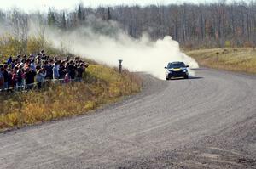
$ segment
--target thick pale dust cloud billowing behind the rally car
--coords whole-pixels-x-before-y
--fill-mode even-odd
[[[118,60],[122,59],[126,69],[147,72],[160,79],[165,79],[164,67],[172,61],[183,61],[189,68],[198,68],[195,59],[183,54],[172,37],[153,42],[143,34],[140,39],[134,39],[116,22],[95,18],[87,25],[64,33],[49,30],[46,35],[57,48],[72,49],[74,54],[110,66],[118,66]],[[195,76],[195,72],[189,70],[189,75]]]

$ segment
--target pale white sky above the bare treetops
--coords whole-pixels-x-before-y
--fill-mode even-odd
[[[0,0],[0,8],[6,10],[10,8],[21,8],[25,11],[43,10],[49,7],[56,9],[73,9],[78,3],[84,6],[97,7],[99,5],[119,5],[119,4],[168,4],[168,3],[206,3],[218,2],[218,0]]]

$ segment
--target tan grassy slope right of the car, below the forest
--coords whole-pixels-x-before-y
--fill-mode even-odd
[[[256,48],[212,48],[186,52],[201,65],[256,74]]]

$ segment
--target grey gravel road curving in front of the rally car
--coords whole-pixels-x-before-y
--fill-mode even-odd
[[[256,168],[256,76],[143,78],[121,103],[0,133],[0,168]]]

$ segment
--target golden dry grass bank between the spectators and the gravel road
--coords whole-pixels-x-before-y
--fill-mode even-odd
[[[51,84],[42,91],[1,93],[0,129],[3,131],[85,114],[140,89],[140,79],[127,70],[119,75],[113,68],[90,65],[84,82]]]

